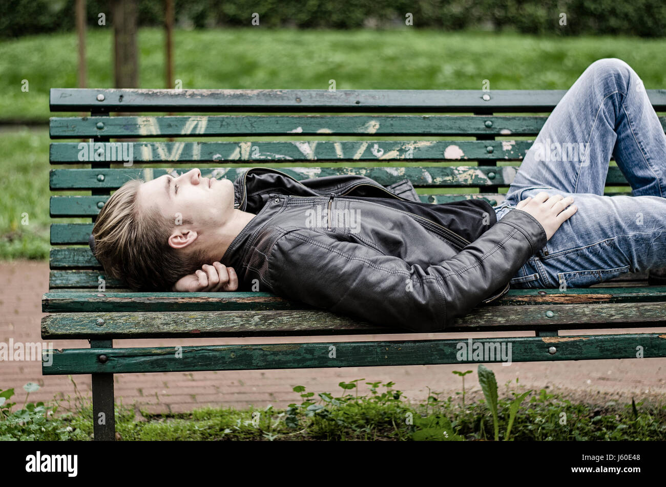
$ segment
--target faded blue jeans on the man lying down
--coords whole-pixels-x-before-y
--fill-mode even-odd
[[[632,196],[603,196],[611,156]],[[498,220],[541,191],[573,196],[578,210],[511,287],[586,287],[666,267],[666,135],[624,61],[595,61],[557,103],[494,207]]]

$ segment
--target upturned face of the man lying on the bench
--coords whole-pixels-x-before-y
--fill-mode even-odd
[[[169,245],[184,247],[228,222],[234,209],[234,184],[228,179],[202,178],[196,168],[178,177],[165,174],[139,186],[137,205],[159,208],[172,222]]]

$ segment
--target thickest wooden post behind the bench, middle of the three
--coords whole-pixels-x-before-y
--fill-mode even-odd
[[[137,1],[111,0],[116,88],[139,88]]]

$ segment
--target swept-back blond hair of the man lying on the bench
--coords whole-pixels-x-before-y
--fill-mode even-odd
[[[180,277],[200,269],[205,257],[202,251],[187,253],[168,245],[173,222],[155,206],[139,209],[142,183],[126,182],[103,206],[93,227],[93,253],[109,277],[135,291],[170,291]]]

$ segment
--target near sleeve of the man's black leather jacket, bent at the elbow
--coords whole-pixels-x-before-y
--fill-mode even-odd
[[[313,230],[291,230],[270,251],[274,293],[314,307],[418,332],[446,329],[506,285],[547,239],[511,210],[451,259],[421,267]]]

